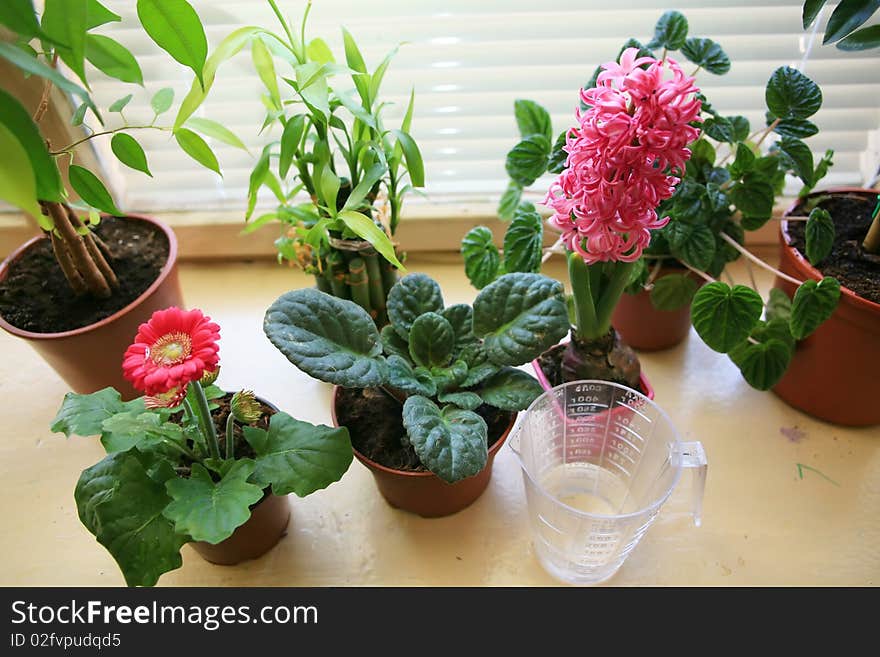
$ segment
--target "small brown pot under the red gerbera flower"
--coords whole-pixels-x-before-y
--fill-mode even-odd
[[[257,401],[278,412],[278,407],[262,397]],[[193,541],[190,543],[205,561],[221,566],[232,566],[248,559],[256,559],[271,550],[287,534],[290,522],[290,504],[287,495],[274,495],[267,488],[263,499],[251,507],[251,517],[240,525],[232,536],[219,543]]]

